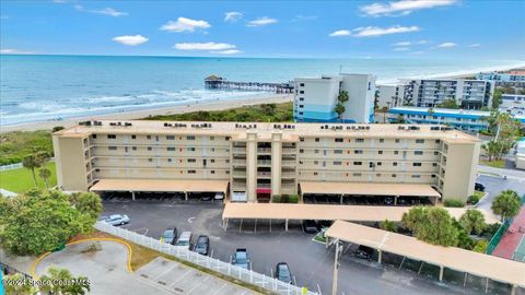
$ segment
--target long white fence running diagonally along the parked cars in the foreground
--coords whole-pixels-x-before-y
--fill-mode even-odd
[[[243,282],[250,283],[253,285],[264,287],[266,290],[269,290],[271,292],[278,293],[278,294],[290,294],[290,295],[301,295],[301,294],[307,294],[307,295],[314,295],[317,293],[310,292],[310,291],[304,291],[302,287],[298,287],[291,284],[287,284],[284,282],[281,282],[277,279],[266,276],[264,274],[260,274],[258,272],[252,271],[252,270],[246,270],[236,266],[233,266],[231,263],[221,261],[215,258],[211,258],[208,256],[202,256],[199,253],[196,253],[194,251],[189,251],[186,248],[182,247],[176,247],[166,243],[162,243],[159,239],[154,239],[151,237],[147,237],[140,234],[137,234],[135,232],[125,229],[125,228],[119,228],[113,225],[109,225],[104,222],[97,222],[95,224],[95,228],[105,232],[108,234],[112,234],[114,236],[121,237],[124,239],[127,239],[129,241],[132,241],[135,244],[144,246],[147,248],[174,256],[178,259],[191,262],[194,264],[207,268],[209,270],[213,270],[217,272],[220,272],[222,274],[232,276],[234,279],[238,279]]]

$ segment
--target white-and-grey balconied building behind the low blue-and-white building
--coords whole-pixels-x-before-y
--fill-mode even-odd
[[[493,83],[464,79],[422,79],[404,81],[404,105],[436,107],[454,99],[460,108],[480,109],[492,106]]]

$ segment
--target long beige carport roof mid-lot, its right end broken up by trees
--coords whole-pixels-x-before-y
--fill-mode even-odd
[[[340,205],[340,204],[287,204],[287,203],[226,203],[222,219],[246,220],[316,220],[316,221],[362,221],[400,222],[402,214],[411,206]],[[452,216],[459,219],[466,209],[445,208]],[[485,210],[479,210],[487,223],[499,220]]]

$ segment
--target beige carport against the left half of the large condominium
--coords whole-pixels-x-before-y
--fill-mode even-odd
[[[222,192],[226,196],[228,185],[228,180],[101,179],[90,191],[128,191],[132,200],[136,192],[183,192],[188,200],[188,192]]]

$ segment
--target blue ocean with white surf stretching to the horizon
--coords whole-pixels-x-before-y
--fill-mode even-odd
[[[524,64],[515,60],[279,59],[0,56],[0,126],[62,120],[260,93],[206,90],[203,79],[287,82],[295,76],[372,73],[381,83]]]

